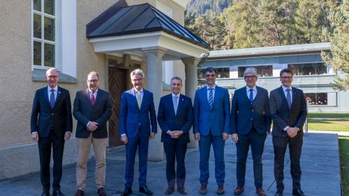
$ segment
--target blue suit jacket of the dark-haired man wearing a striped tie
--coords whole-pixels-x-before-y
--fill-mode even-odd
[[[207,100],[207,86],[196,90],[194,98],[194,124],[193,132],[200,135],[218,136],[230,133],[230,101],[227,89],[216,86],[214,103],[209,109]]]

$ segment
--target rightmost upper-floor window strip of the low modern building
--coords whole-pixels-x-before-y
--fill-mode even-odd
[[[325,63],[288,64],[288,68],[292,69],[293,75],[324,75],[328,73]]]

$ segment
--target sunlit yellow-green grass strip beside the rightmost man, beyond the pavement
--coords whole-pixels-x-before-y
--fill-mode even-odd
[[[309,130],[349,131],[349,121],[309,119],[308,128]]]

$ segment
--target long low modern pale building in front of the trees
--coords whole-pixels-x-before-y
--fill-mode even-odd
[[[321,52],[329,52],[329,46],[329,43],[315,43],[211,51],[200,68],[217,68],[216,83],[227,88],[231,95],[246,85],[244,70],[248,67],[257,69],[257,85],[269,92],[281,85],[280,71],[291,68],[292,85],[304,91],[309,112],[349,112],[349,91],[332,89],[335,73],[321,58]]]

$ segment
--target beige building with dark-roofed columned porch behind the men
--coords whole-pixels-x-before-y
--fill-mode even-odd
[[[0,180],[39,170],[38,146],[30,137],[30,114],[36,89],[47,85],[45,70],[48,68],[59,70],[59,86],[70,91],[72,102],[77,91],[87,88],[87,74],[92,70],[100,74],[101,89],[110,91],[113,102],[110,146],[121,145],[119,101],[121,93],[132,86],[129,73],[133,69],[144,70],[145,87],[154,92],[156,110],[160,97],[168,93],[166,89],[174,75],[184,79],[182,93],[193,96],[197,84],[196,65],[208,45],[181,29],[188,1],[2,1]],[[136,23],[119,12],[123,9],[139,11],[140,17],[133,18]],[[159,22],[147,25],[158,25],[158,29],[151,29],[155,26],[135,29],[149,17],[141,15],[146,13]],[[114,24],[117,22],[114,18],[119,15],[124,16],[124,29],[119,31],[114,27],[109,30],[119,33],[103,34],[106,31],[103,25]],[[177,29],[170,29],[166,24]],[[73,123],[75,132],[75,119]],[[191,142],[190,145],[197,144]],[[150,142],[149,152],[159,150],[163,150],[163,146],[158,134]],[[66,142],[64,164],[76,160],[73,138]],[[163,160],[163,154],[149,153],[149,160]]]

